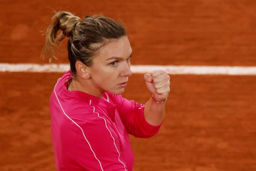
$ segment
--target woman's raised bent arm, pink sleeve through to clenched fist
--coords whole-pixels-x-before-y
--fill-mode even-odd
[[[164,101],[170,91],[170,76],[162,70],[145,74],[144,78],[152,97],[157,102]],[[122,95],[114,95],[108,92],[108,96],[114,104],[127,132],[135,137],[148,138],[159,131],[163,118],[165,103],[157,103],[152,98],[146,105],[127,100]]]

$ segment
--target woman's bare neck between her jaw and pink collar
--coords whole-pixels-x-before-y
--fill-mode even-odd
[[[69,87],[69,91],[82,91],[95,97],[102,99],[104,91],[100,91],[94,84],[92,79],[72,79]]]

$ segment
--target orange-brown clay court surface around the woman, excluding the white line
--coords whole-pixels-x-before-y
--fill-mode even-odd
[[[45,7],[47,6],[47,7]],[[102,13],[128,30],[134,65],[256,66],[256,1],[0,1],[0,63],[40,58],[53,15]],[[66,43],[59,60],[68,63]],[[49,98],[62,73],[0,72],[0,170],[56,170]],[[130,136],[134,170],[256,170],[256,76],[171,75],[160,132]],[[133,74],[123,94],[150,94]]]

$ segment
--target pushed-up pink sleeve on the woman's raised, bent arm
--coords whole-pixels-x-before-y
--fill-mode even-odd
[[[127,100],[122,95],[114,95],[108,92],[108,96],[116,105],[116,109],[127,132],[135,137],[148,138],[158,133],[162,123],[157,126],[150,125],[144,117],[145,104]]]

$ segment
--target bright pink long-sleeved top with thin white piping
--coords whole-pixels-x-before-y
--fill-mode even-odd
[[[57,169],[132,171],[128,133],[148,138],[161,126],[144,118],[143,104],[106,92],[103,99],[68,91],[68,75],[56,83],[50,99],[52,141]]]

